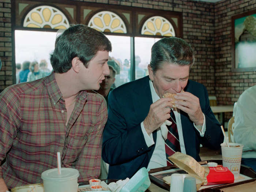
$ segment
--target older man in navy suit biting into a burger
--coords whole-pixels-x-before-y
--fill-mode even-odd
[[[141,167],[170,165],[167,157],[176,151],[200,161],[200,144],[220,147],[223,135],[207,90],[188,79],[194,60],[187,42],[163,38],[151,49],[149,75],[109,94],[102,148],[108,178],[124,179]],[[163,98],[166,93],[176,94],[175,101]]]

